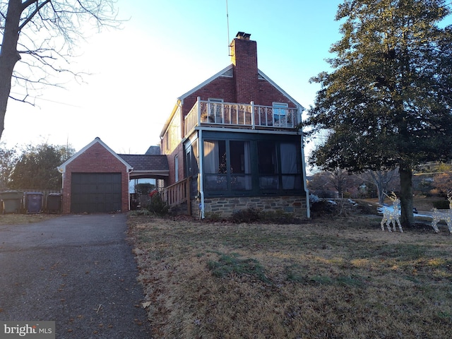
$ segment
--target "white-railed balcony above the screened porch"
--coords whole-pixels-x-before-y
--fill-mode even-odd
[[[293,130],[298,124],[296,108],[201,101],[198,97],[185,117],[184,132],[187,136],[196,126]]]

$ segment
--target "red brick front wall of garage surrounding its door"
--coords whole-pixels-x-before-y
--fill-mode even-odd
[[[127,168],[100,143],[93,144],[66,166],[63,177],[63,213],[71,213],[71,176],[77,173],[121,173],[121,210],[129,210],[129,175]]]

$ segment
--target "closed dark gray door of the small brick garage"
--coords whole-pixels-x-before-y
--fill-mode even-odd
[[[72,173],[72,213],[117,210],[121,210],[121,173]]]

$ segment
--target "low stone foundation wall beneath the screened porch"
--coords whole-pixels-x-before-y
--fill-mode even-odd
[[[295,218],[307,217],[306,198],[302,196],[253,196],[234,198],[204,199],[206,217],[229,218],[239,210],[256,208],[265,212],[282,211],[291,213]],[[199,203],[192,204],[192,215],[199,215]]]

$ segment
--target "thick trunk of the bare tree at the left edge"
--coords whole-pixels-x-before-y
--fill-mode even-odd
[[[22,1],[10,0],[6,20],[3,40],[0,49],[0,140],[5,124],[6,105],[11,92],[11,78],[16,62],[20,56],[17,52],[17,42],[19,40],[20,13],[22,13]]]

